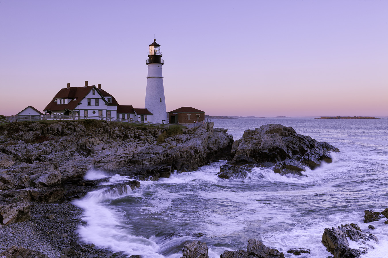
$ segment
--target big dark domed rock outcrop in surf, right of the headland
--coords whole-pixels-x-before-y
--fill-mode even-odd
[[[242,138],[233,143],[230,164],[275,166],[276,173],[303,175],[304,166],[314,169],[322,161],[332,162],[329,152],[333,151],[339,150],[326,142],[300,135],[292,127],[263,125],[246,130]]]

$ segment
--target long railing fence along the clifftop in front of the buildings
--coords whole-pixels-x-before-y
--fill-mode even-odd
[[[23,122],[23,121],[73,121],[73,120],[85,120],[85,119],[95,119],[95,120],[105,120],[105,121],[113,121],[119,123],[128,123],[130,125],[142,125],[142,126],[153,126],[159,128],[173,128],[179,127],[182,129],[194,128],[200,125],[203,125],[205,121],[200,121],[197,124],[160,124],[160,123],[150,123],[148,121],[134,121],[123,118],[115,118],[109,116],[102,116],[99,114],[71,114],[71,115],[63,115],[63,116],[53,116],[53,115],[42,115],[42,116],[11,116],[5,119],[0,120],[0,125],[12,123],[12,122]]]

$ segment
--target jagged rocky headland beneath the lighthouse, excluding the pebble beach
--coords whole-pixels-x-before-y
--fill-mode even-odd
[[[27,218],[26,208],[12,203],[80,198],[98,187],[99,181],[83,179],[92,167],[137,180],[158,180],[174,170],[192,171],[208,164],[230,153],[233,143],[226,129],[213,129],[213,123],[158,144],[160,128],[102,120],[53,122],[0,126],[0,203],[7,200],[2,206],[9,210],[3,212],[7,223]],[[115,187],[125,191],[127,186]]]

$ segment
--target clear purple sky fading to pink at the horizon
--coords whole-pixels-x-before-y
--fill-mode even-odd
[[[0,114],[102,84],[144,108],[161,45],[167,111],[388,116],[388,1],[0,2]]]

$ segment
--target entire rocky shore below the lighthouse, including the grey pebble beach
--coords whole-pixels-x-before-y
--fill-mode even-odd
[[[83,179],[88,169],[136,179],[103,186],[105,191],[120,193],[138,188],[139,180],[158,180],[169,177],[174,170],[197,169],[226,157],[232,148],[233,137],[225,129],[213,129],[213,123],[158,144],[162,130],[99,120],[0,126],[0,251],[17,246],[53,257],[109,257],[109,251],[90,251],[95,249],[92,245],[77,243],[74,229],[82,224],[78,219],[81,210],[64,204],[109,181],[109,176]],[[50,207],[57,209],[49,212]],[[64,207],[66,212],[76,211],[66,224],[62,223]],[[35,241],[34,234],[40,234],[44,241]]]

